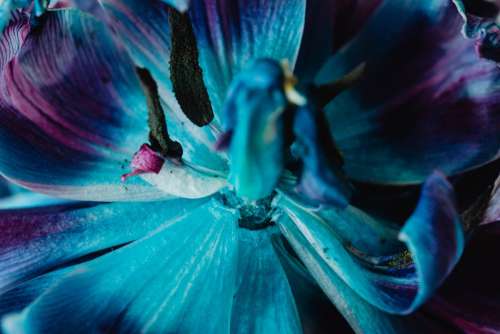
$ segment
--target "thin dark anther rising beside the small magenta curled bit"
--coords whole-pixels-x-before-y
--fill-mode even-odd
[[[158,86],[147,69],[136,67],[148,104],[149,141],[151,147],[164,157],[182,157],[182,146],[170,139],[165,113],[160,103]]]

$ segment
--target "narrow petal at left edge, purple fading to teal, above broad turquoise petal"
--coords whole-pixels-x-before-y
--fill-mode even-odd
[[[88,254],[137,240],[201,203],[76,203],[0,211],[0,291]]]

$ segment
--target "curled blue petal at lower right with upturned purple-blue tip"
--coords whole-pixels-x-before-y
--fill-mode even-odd
[[[399,232],[398,238],[406,244],[409,253],[365,254],[356,248],[359,245],[356,236],[349,242],[339,236],[332,226],[335,221],[328,223],[320,214],[290,200],[285,199],[281,207],[291,218],[281,223],[287,238],[297,238],[291,236],[290,231],[300,231],[311,249],[336,275],[369,303],[389,313],[415,311],[441,285],[462,254],[464,235],[453,192],[439,173],[428,178],[417,208]],[[295,229],[290,226],[291,222]],[[351,234],[359,233],[355,226]],[[385,237],[390,239],[391,236]],[[381,249],[387,247],[383,245],[387,241],[379,239],[379,235],[368,234],[364,238],[374,239],[373,243],[378,241],[382,244]],[[368,244],[367,247],[373,246]]]

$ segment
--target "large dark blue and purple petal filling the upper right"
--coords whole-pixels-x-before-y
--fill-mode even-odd
[[[477,59],[449,1],[385,1],[318,82],[366,62],[327,108],[345,170],[371,183],[420,183],[499,156],[500,70]],[[383,78],[383,80],[381,79]]]

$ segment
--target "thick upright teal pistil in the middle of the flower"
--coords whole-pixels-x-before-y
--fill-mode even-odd
[[[285,167],[285,118],[290,110],[280,64],[262,59],[231,85],[225,104],[229,182],[240,197],[271,195]]]

